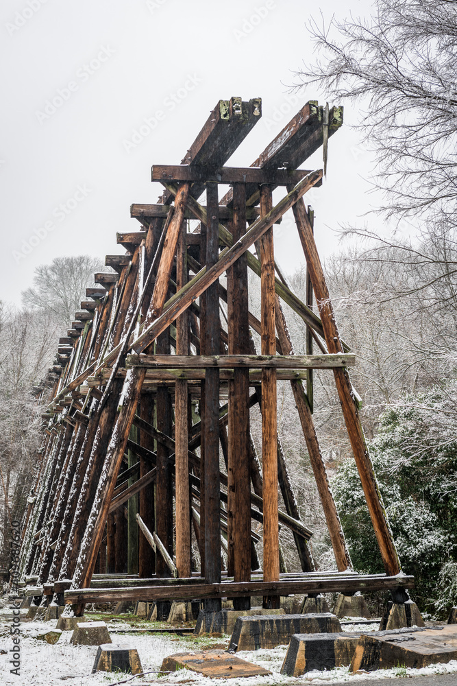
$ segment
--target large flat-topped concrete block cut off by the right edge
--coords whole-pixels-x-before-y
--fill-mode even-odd
[[[457,624],[362,634],[350,672],[390,670],[404,665],[421,669],[457,659]]]

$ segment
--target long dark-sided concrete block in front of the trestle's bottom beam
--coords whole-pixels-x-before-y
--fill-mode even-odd
[[[238,617],[229,651],[275,648],[288,643],[293,634],[337,632],[341,632],[340,620],[331,613]]]

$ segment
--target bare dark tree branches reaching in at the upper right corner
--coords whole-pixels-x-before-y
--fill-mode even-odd
[[[377,0],[371,19],[310,24],[319,58],[295,87],[318,84],[360,102],[360,128],[377,156],[384,210],[443,215],[457,200],[456,0]]]

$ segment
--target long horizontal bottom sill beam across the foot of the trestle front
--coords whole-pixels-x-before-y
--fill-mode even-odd
[[[390,589],[407,589],[414,587],[413,576],[347,576],[335,574],[332,578],[319,575],[314,580],[293,580],[266,582],[254,580],[245,583],[225,581],[219,584],[173,584],[174,600],[193,600],[198,589],[199,598],[236,598],[238,595],[293,595],[298,593],[344,593],[349,591],[387,591]],[[66,604],[88,602],[113,602],[114,600],[168,600],[170,587],[143,586],[123,589],[74,589],[65,591]]]

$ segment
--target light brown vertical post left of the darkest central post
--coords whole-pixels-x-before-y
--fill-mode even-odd
[[[176,252],[177,290],[187,283],[186,224],[182,222]],[[188,355],[188,313],[176,320],[176,354]],[[190,491],[188,458],[188,392],[187,381],[175,382],[175,493],[176,493],[176,567],[182,578],[191,576],[190,556]]]

